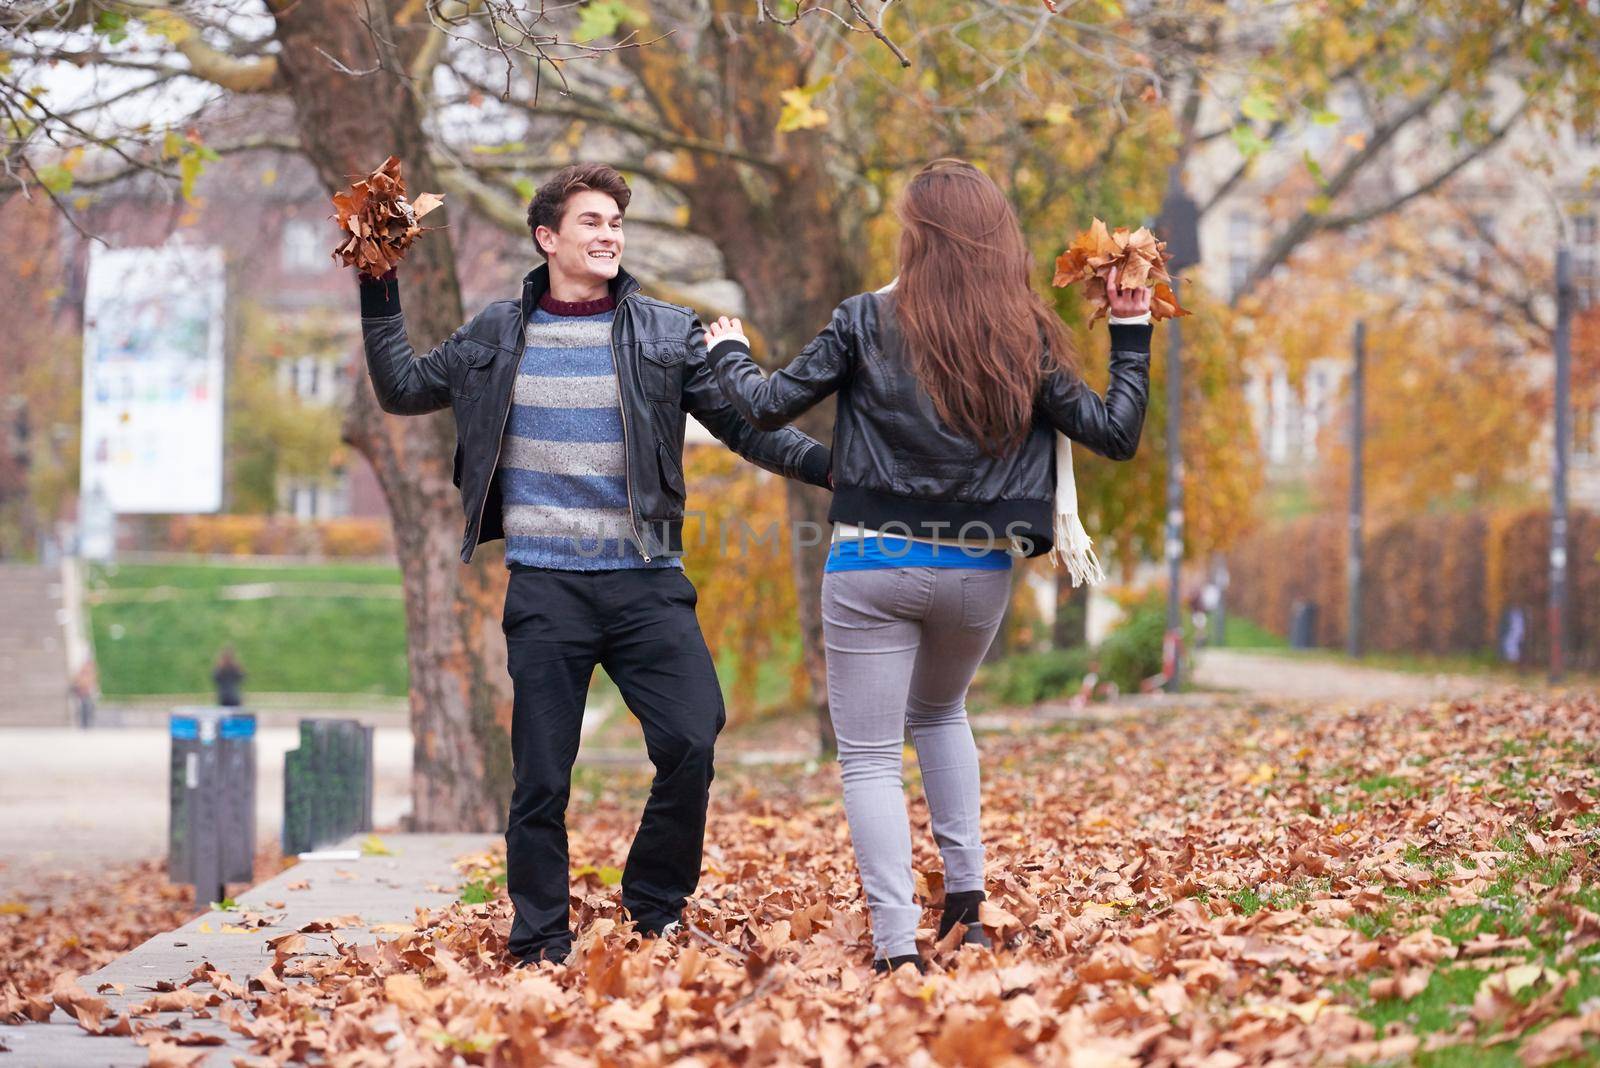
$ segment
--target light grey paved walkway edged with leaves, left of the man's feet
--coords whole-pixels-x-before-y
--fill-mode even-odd
[[[360,838],[339,847],[354,849]],[[120,1014],[150,998],[157,982],[184,982],[202,961],[210,961],[243,986],[272,962],[267,938],[298,931],[314,919],[344,918],[346,924],[331,932],[341,942],[376,942],[389,932],[373,927],[410,924],[418,908],[438,908],[454,900],[461,876],[453,862],[488,849],[496,839],[496,835],[389,835],[382,841],[394,851],[392,857],[301,862],[238,897],[242,911],[248,908],[274,916],[270,927],[243,932],[237,931],[242,911],[206,913],[85,975],[78,985],[93,994],[101,983],[120,983],[122,991],[102,994],[112,1012]],[[310,886],[290,889],[299,883]],[[283,902],[283,908],[270,908],[267,902]],[[234,932],[227,931],[230,926]],[[310,951],[317,946],[331,950],[331,934],[306,935]],[[197,983],[194,990],[210,993],[205,983]],[[146,1020],[162,1025],[176,1020],[184,1031],[222,1034],[226,1044],[211,1047],[211,1054],[200,1062],[208,1068],[230,1065],[235,1057],[250,1052],[250,1039],[234,1034],[216,1018],[195,1020],[184,1012]],[[134,1068],[149,1063],[144,1047],[131,1038],[93,1036],[59,1009],[50,1023],[0,1025],[0,1044],[11,1049],[11,1054],[0,1054],[0,1065],[18,1068]]]

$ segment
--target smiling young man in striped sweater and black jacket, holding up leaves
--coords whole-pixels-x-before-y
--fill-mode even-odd
[[[530,962],[571,950],[565,815],[597,664],[638,716],[656,766],[622,903],[638,931],[661,934],[699,881],[723,705],[678,561],[685,412],[766,470],[827,483],[827,448],[746,424],[706,366],[694,313],[642,294],[621,269],[629,198],[610,166],[557,173],[528,206],[546,265],[523,278],[522,299],[490,304],[421,358],[395,281],[362,280],[382,409],[454,409],[462,561],[506,539],[510,951]]]

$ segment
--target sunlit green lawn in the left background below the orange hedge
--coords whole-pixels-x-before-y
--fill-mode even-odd
[[[294,584],[285,596],[224,600],[222,587]],[[318,585],[366,585],[373,596],[318,596]],[[171,600],[104,600],[168,587]],[[230,644],[245,695],[406,692],[400,572],[374,564],[122,564],[90,576],[90,628],[107,697],[202,694]],[[347,592],[346,592],[347,593]]]

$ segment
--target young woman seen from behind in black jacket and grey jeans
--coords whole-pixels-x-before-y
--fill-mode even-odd
[[[838,397],[822,628],[880,970],[923,966],[901,785],[907,727],[944,859],[939,935],[960,923],[963,942],[989,945],[966,689],[1005,612],[1011,553],[1046,553],[1056,539],[1058,433],[1130,459],[1150,360],[1150,291],[1112,285],[1110,389],[1101,400],[1083,384],[1061,320],[1029,286],[1016,214],[970,163],[930,163],[899,216],[899,278],[840,304],[771,377],[739,320],[707,331],[717,379],[755,427]]]

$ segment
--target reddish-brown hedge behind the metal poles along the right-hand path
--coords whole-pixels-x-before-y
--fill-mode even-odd
[[[1261,531],[1229,558],[1227,604],[1288,633],[1296,601],[1317,604],[1312,641],[1344,648],[1349,614],[1342,516]],[[1600,670],[1600,515],[1568,520],[1570,659]],[[1370,532],[1363,646],[1374,652],[1494,652],[1507,609],[1523,611],[1523,664],[1549,657],[1549,512],[1429,515]]]

